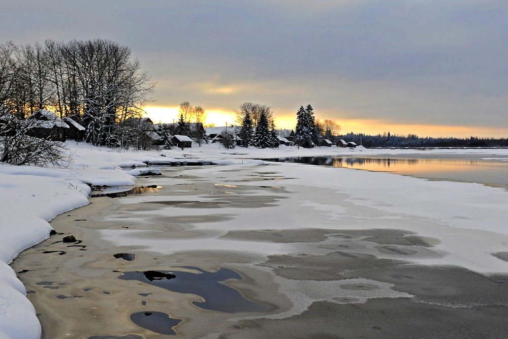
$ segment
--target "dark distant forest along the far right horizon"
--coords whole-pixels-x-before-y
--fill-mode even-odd
[[[358,145],[365,147],[508,147],[507,138],[420,138],[417,135],[408,136],[378,134],[365,135],[348,133],[339,138],[345,141],[354,141]]]

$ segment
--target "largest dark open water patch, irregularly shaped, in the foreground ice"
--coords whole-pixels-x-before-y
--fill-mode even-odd
[[[161,277],[167,275],[167,278],[150,280],[147,278],[146,272],[130,271],[123,272],[118,279],[136,280],[172,292],[195,294],[203,298],[204,301],[193,301],[193,304],[204,310],[225,313],[267,312],[271,310],[269,305],[248,300],[236,289],[223,284],[227,280],[243,279],[239,273],[232,269],[221,267],[215,272],[208,272],[198,267],[185,266],[180,268],[197,271],[197,273],[162,271],[159,272],[159,275]],[[150,275],[153,276],[153,274]]]

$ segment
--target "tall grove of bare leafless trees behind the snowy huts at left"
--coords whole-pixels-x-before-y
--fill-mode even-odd
[[[0,120],[10,121],[13,133],[19,121],[50,109],[78,121],[93,145],[128,147],[132,128],[126,121],[141,116],[154,88],[140,69],[129,47],[104,39],[5,43],[0,45]]]

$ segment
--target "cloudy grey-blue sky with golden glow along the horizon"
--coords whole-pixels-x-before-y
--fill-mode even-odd
[[[103,38],[156,83],[146,111],[235,124],[243,102],[294,128],[300,106],[341,133],[508,137],[504,0],[0,0],[0,44]]]

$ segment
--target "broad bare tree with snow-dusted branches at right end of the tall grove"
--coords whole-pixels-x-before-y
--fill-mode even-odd
[[[154,85],[139,73],[139,62],[130,61],[131,50],[111,41],[72,41],[63,56],[71,113],[82,115],[87,141],[111,145],[118,114],[123,119],[138,114]]]

